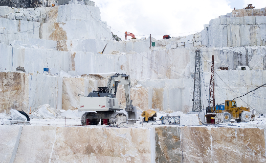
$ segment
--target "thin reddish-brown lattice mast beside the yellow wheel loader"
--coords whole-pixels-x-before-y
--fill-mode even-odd
[[[213,112],[215,106],[215,96],[214,96],[214,56],[211,56],[211,79],[210,79],[210,98],[209,98],[209,108]]]

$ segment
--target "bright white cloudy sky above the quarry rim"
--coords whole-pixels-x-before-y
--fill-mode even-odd
[[[137,38],[162,39],[163,35],[186,36],[200,32],[203,25],[219,15],[253,4],[265,8],[266,0],[92,0],[100,8],[102,21],[124,40],[130,32]],[[117,31],[119,32],[117,32]],[[142,36],[146,35],[146,36]],[[131,38],[131,37],[128,37]]]

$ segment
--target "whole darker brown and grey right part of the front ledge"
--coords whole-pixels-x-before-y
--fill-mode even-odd
[[[156,162],[264,162],[263,132],[259,128],[156,127]]]

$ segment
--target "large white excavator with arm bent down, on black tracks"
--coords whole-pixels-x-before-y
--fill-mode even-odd
[[[117,87],[124,85],[126,107],[124,113],[117,111],[122,110],[116,98]],[[115,125],[121,123],[136,123],[136,107],[132,105],[130,99],[130,77],[126,74],[116,73],[108,79],[107,87],[98,87],[97,91],[93,91],[88,96],[81,96],[79,99],[79,111],[86,111],[81,116],[82,125]],[[121,103],[120,103],[121,104]]]

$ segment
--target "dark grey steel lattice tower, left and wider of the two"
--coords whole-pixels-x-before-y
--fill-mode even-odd
[[[202,110],[201,102],[201,57],[200,50],[196,50],[195,56],[195,73],[194,73],[194,92],[193,92],[193,107],[192,112]]]

